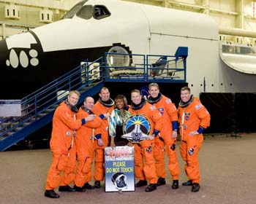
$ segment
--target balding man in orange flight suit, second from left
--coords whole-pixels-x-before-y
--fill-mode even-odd
[[[78,110],[78,119],[94,114],[91,109],[94,107],[94,98],[86,97],[83,106]],[[94,160],[94,128],[101,125],[104,114],[95,117],[91,122],[86,122],[76,134],[76,146],[78,155],[78,168],[75,173],[75,186],[78,192],[86,192],[86,189],[94,189],[89,181],[92,177],[92,162]]]

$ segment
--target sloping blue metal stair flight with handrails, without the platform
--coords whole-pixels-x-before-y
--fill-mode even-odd
[[[95,66],[97,72],[93,69],[88,71],[88,67],[95,63],[102,66],[102,58],[92,63],[86,61],[83,65],[74,68],[45,87],[22,98],[22,116],[7,117],[1,122],[0,151],[8,149],[51,122],[56,107],[67,97],[70,90],[79,90],[81,93],[78,104],[82,103],[86,96],[99,93],[100,88],[104,85],[102,67]],[[99,77],[94,77],[94,74]]]

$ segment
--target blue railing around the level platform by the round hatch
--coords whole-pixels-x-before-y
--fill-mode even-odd
[[[179,55],[178,55],[179,54]],[[187,55],[105,53],[106,82],[186,82]],[[159,59],[162,59],[161,61]]]

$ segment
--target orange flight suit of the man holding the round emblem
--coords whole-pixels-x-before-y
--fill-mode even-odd
[[[144,104],[143,104],[144,103]],[[154,130],[160,131],[162,129],[162,116],[157,111],[156,107],[152,106],[146,101],[142,101],[143,106],[140,109],[133,109],[132,105],[129,106],[131,114],[143,114],[150,122],[151,130],[150,135]],[[157,184],[157,172],[154,163],[153,150],[147,152],[148,147],[154,149],[154,140],[143,140],[140,144],[133,144],[135,148],[135,176],[140,180],[149,180],[150,184]],[[143,162],[145,160],[145,164]]]

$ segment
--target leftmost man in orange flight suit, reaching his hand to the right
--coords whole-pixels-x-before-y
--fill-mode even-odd
[[[75,130],[94,119],[94,115],[76,119],[76,104],[80,98],[77,90],[70,91],[67,100],[63,101],[53,114],[53,130],[50,138],[50,151],[53,160],[45,184],[45,197],[59,198],[54,191],[59,184],[59,192],[74,192],[69,184],[75,178],[76,148]],[[61,177],[61,172],[63,176]]]

